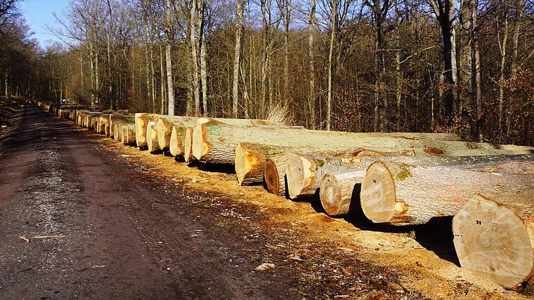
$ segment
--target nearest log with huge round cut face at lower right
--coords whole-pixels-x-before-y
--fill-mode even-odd
[[[534,199],[524,195],[476,194],[453,217],[460,265],[503,288],[534,275]]]

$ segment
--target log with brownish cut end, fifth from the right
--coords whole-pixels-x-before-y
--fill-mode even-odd
[[[286,169],[290,155],[272,156],[265,163],[264,178],[268,192],[286,195]]]

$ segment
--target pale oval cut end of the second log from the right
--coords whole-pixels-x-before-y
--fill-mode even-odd
[[[376,162],[369,166],[359,198],[365,216],[371,221],[383,223],[393,218],[396,206],[395,183],[384,164]]]

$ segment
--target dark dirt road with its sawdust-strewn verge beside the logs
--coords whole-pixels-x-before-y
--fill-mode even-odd
[[[33,106],[0,132],[0,238],[0,299],[525,298],[458,266],[451,219],[333,219]]]

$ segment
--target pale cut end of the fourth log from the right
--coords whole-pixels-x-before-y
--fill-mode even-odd
[[[315,181],[315,172],[312,162],[307,158],[294,154],[289,160],[286,171],[287,190],[289,198],[295,199],[302,194],[302,190]]]

